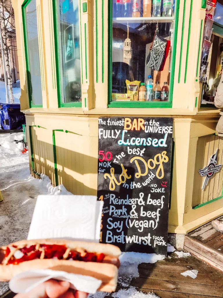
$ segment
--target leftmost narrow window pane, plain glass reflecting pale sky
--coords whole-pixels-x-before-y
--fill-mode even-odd
[[[29,76],[31,83],[32,105],[42,105],[42,84],[40,70],[40,52],[37,27],[36,0],[32,0],[25,8],[26,32],[29,55]]]

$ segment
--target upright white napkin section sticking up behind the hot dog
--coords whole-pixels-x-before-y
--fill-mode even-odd
[[[28,240],[73,238],[99,242],[103,202],[91,195],[39,195]]]

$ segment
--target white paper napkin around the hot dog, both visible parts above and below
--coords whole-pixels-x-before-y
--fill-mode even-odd
[[[39,195],[35,205],[28,240],[71,238],[99,242],[103,201],[90,195]],[[17,274],[10,281],[15,293],[30,291],[51,278],[69,281],[71,287],[95,293],[101,284],[90,276],[54,271],[31,270]]]

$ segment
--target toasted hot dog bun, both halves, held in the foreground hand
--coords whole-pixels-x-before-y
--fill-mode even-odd
[[[63,239],[43,239],[43,240],[22,240],[10,245],[30,246],[35,244],[59,244],[66,245],[67,248],[83,248],[87,252],[103,253],[105,255],[119,257],[121,251],[118,247],[110,244],[91,243],[84,241],[72,241]],[[6,246],[1,249],[5,249]],[[0,262],[2,261],[3,250],[0,249]],[[18,265],[0,265],[0,281],[9,281],[16,274],[32,269],[51,269],[66,271],[68,273],[82,274],[95,277],[102,280],[98,290],[104,292],[115,291],[117,286],[118,268],[113,264],[83,262],[74,260],[57,260],[57,259],[35,259],[25,261]]]

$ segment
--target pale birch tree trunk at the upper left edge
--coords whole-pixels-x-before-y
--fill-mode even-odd
[[[10,103],[15,103],[13,92],[12,92],[12,73],[10,68],[9,52],[7,47],[8,32],[5,26],[4,0],[0,0],[0,23],[1,23],[1,34],[3,39],[3,50],[4,50],[3,59],[5,60],[5,68],[6,68],[7,77],[8,77]],[[5,78],[5,80],[7,80],[7,78]]]

